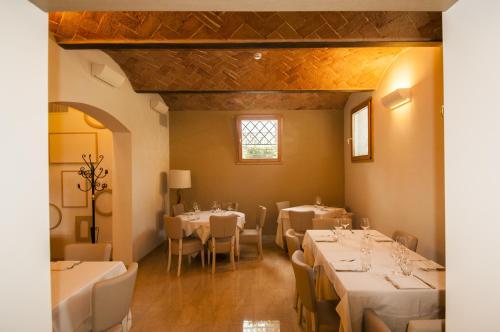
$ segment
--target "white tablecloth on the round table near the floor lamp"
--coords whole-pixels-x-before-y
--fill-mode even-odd
[[[199,211],[195,213],[185,213],[179,215],[182,219],[182,229],[186,236],[191,234],[196,234],[201,241],[205,244],[210,237],[210,216],[228,216],[235,214],[238,216],[237,227],[241,230],[245,227],[245,214],[237,211],[222,211],[222,212],[211,212],[211,211]],[[238,240],[239,232],[236,232],[236,238]]]

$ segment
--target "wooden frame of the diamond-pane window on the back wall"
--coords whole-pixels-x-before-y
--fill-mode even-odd
[[[277,120],[278,121],[278,158],[276,159],[243,159],[242,151],[242,120]],[[282,133],[283,133],[283,116],[281,114],[245,114],[236,117],[236,133],[238,135],[238,160],[237,164],[281,164],[282,162]]]

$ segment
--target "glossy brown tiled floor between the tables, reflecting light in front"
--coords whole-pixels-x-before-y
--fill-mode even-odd
[[[236,271],[226,260],[217,263],[212,275],[199,258],[190,266],[184,259],[177,278],[176,264],[166,271],[164,246],[141,260],[132,331],[302,331],[293,309],[291,264],[271,239],[264,260],[254,247],[242,247]]]

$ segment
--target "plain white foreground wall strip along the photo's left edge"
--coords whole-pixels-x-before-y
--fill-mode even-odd
[[[0,30],[0,331],[50,331],[47,15],[1,1]]]

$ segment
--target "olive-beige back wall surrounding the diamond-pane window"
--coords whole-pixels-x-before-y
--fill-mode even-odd
[[[265,232],[274,233],[277,201],[312,204],[321,195],[325,203],[343,206],[342,111],[263,113],[283,115],[281,165],[235,164],[240,112],[170,113],[170,166],[192,172],[192,189],[184,191],[189,207],[193,201],[204,209],[213,200],[237,201],[253,225],[257,204],[262,204],[268,207]]]

